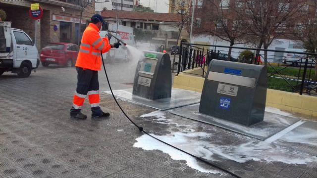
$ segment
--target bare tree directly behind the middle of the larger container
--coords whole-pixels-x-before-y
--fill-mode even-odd
[[[196,25],[195,31],[198,33],[207,33],[218,37],[219,39],[229,42],[230,46],[242,44],[245,42],[246,31],[242,26],[241,3],[230,3],[229,0],[204,0],[201,11],[203,25]],[[231,47],[228,51],[228,61],[231,56]]]

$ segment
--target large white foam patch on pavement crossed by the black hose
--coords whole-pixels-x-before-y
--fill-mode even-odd
[[[216,158],[213,157],[213,154],[216,154],[238,163],[245,163],[250,160],[266,162],[278,161],[286,164],[317,163],[317,157],[314,155],[263,141],[251,141],[239,145],[219,145],[211,144],[211,142],[208,141],[208,137],[211,137],[212,134],[202,132],[177,132],[167,135],[152,135],[177,148],[211,161],[216,160]],[[145,150],[161,150],[162,152],[169,154],[174,160],[186,160],[187,165],[193,169],[204,173],[214,173],[211,170],[201,168],[191,156],[185,155],[172,147],[164,145],[148,135],[142,135],[136,140],[137,142],[133,145],[135,147],[143,148]]]

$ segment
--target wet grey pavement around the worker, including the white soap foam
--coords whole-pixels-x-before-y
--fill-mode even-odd
[[[131,88],[133,68],[107,68],[113,89]],[[102,72],[99,77],[100,90],[108,90]],[[41,69],[25,79],[0,76],[1,178],[232,178],[140,133],[106,93],[101,106],[110,118],[69,118],[75,86],[74,68]],[[317,178],[316,122],[264,144],[169,111],[119,103],[150,134],[240,177]],[[90,115],[87,101],[83,113]]]

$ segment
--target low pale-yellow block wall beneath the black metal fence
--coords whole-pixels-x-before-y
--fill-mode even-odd
[[[188,70],[187,72],[200,73],[201,70],[194,69]],[[175,76],[173,87],[202,92],[204,82],[205,78],[203,77],[180,73],[178,76]],[[317,117],[316,96],[300,95],[298,93],[267,89],[266,106]]]

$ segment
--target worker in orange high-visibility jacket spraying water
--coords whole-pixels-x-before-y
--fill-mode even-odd
[[[102,65],[101,52],[105,53],[110,48],[118,48],[121,45],[119,42],[110,45],[108,38],[100,37],[99,31],[105,24],[101,15],[93,15],[91,21],[83,33],[76,61],[77,89],[73,98],[73,106],[70,109],[70,117],[77,119],[87,118],[85,114],[81,113],[87,95],[93,118],[109,116],[109,113],[103,112],[99,105],[98,71],[101,70]]]

